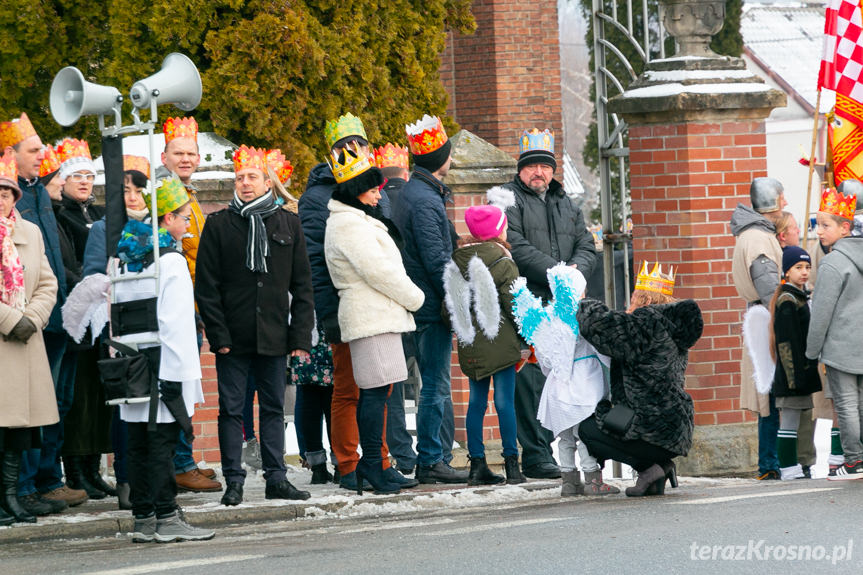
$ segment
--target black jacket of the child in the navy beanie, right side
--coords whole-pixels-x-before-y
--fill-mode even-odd
[[[791,397],[821,391],[818,360],[806,358],[806,334],[809,333],[809,298],[794,285],[779,288],[773,312],[773,334],[776,346],[776,371],[773,395]]]

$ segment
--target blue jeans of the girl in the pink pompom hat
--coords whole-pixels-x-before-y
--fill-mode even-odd
[[[470,400],[467,406],[467,451],[471,457],[485,457],[482,424],[488,409],[488,388],[494,379],[494,408],[500,425],[503,455],[518,455],[515,428],[515,366],[502,369],[478,381],[468,378]]]

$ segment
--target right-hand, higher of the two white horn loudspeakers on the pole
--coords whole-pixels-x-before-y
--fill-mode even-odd
[[[195,64],[178,52],[168,54],[161,71],[135,82],[129,92],[136,108],[149,108],[151,100],[158,104],[174,104],[189,112],[201,103],[201,75]]]

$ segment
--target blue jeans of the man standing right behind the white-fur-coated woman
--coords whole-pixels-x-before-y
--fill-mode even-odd
[[[417,363],[422,376],[419,407],[417,409],[417,459],[420,465],[431,466],[444,461],[444,450],[452,450],[442,433],[446,404],[452,405],[450,391],[450,362],[452,335],[443,323],[417,326]]]

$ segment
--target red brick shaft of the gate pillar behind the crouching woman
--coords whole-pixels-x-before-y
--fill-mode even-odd
[[[740,409],[745,303],[731,277],[729,221],[767,175],[759,120],[633,126],[629,131],[635,261],[676,267],[674,295],[698,301],[704,335],[689,354],[696,425],[753,421]]]

